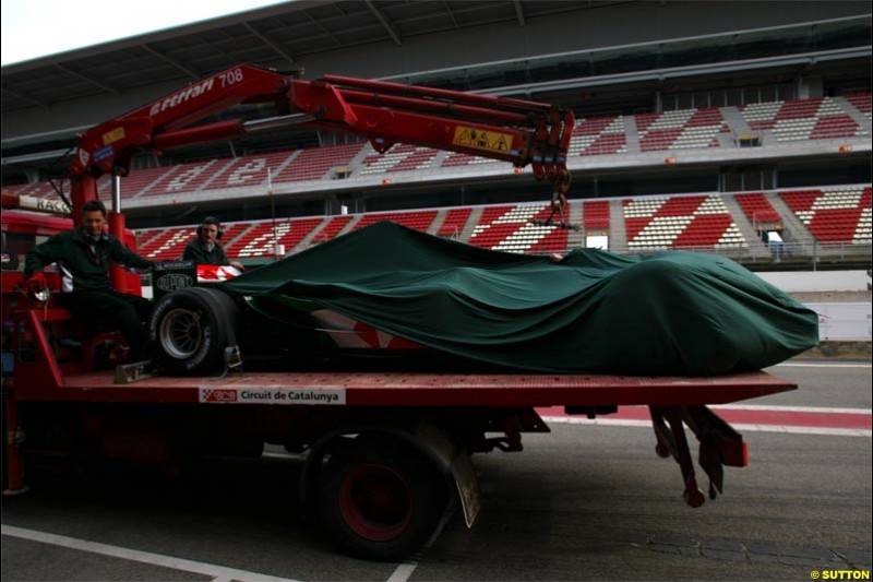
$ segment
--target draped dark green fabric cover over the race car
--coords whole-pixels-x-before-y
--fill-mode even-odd
[[[814,311],[723,257],[577,249],[554,262],[387,222],[222,288],[255,302],[311,300],[442,352],[538,372],[713,376],[818,343]]]

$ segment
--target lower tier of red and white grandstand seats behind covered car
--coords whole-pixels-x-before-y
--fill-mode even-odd
[[[273,222],[230,222],[225,245],[228,257],[258,262],[274,258],[275,242],[286,253],[306,250],[336,236],[379,221],[392,221],[422,233],[506,252],[566,252],[586,246],[587,235],[605,235],[610,249],[622,253],[694,250],[730,257],[750,266],[864,264],[870,259],[870,186],[816,190],[775,190],[732,194],[651,195],[585,201],[571,204],[582,233],[534,224],[549,214],[545,203],[495,204],[373,212]],[[776,206],[787,209],[785,214]],[[612,228],[610,217],[620,224]],[[799,228],[794,225],[803,225]],[[143,253],[157,260],[181,256],[196,225],[146,228],[139,231]],[[800,230],[800,231],[798,231]],[[762,231],[778,231],[785,242],[767,245]],[[621,235],[619,235],[621,233]],[[318,235],[318,236],[316,236]]]

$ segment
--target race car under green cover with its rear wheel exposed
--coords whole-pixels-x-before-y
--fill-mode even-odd
[[[238,346],[286,369],[378,354],[429,371],[711,376],[818,342],[815,312],[722,257],[577,249],[554,262],[393,223],[171,293],[150,329],[158,364],[191,375]]]

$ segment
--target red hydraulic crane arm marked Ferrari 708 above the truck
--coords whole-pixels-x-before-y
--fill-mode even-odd
[[[195,124],[240,104],[274,103],[288,115]],[[96,179],[127,176],[132,156],[299,124],[364,135],[381,153],[403,142],[533,166],[538,180],[566,170],[570,109],[522,99],[327,75],[301,81],[239,66],[97,126],[81,135],[71,167],[72,205],[97,198]],[[558,183],[557,187],[560,187]]]

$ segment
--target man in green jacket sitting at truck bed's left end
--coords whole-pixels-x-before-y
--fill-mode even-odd
[[[130,347],[130,361],[146,358],[148,335],[143,322],[152,304],[143,297],[118,293],[109,281],[109,262],[146,269],[153,261],[143,259],[124,247],[112,235],[104,233],[106,206],[99,200],[82,207],[82,222],[72,230],[60,233],[27,252],[24,275],[28,287],[45,288],[43,268],[58,263],[63,305],[88,332],[95,333],[100,322],[109,322],[121,331]]]

